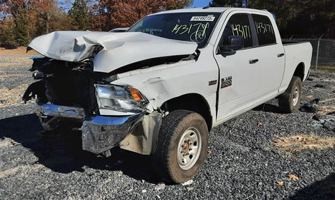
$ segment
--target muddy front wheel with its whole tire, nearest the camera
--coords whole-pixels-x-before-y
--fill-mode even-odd
[[[193,111],[175,110],[163,119],[153,164],[162,178],[185,183],[198,172],[207,155],[208,128]]]

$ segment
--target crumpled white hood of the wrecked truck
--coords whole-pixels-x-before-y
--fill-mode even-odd
[[[82,61],[97,45],[103,50],[94,58],[94,71],[111,72],[137,61],[163,56],[193,54],[196,43],[171,40],[147,33],[55,31],[31,41],[29,48],[51,59]]]

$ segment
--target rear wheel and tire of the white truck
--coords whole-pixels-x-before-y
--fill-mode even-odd
[[[299,108],[301,100],[301,79],[293,76],[288,89],[279,96],[279,108],[285,113],[292,113]]]

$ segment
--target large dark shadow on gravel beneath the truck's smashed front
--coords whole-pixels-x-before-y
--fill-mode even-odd
[[[84,171],[84,166],[109,171],[122,171],[137,180],[158,183],[152,172],[149,156],[114,148],[111,157],[97,157],[82,150],[81,132],[60,128],[57,132],[39,137],[43,130],[36,114],[0,120],[0,138],[8,137],[22,144],[38,157],[38,162],[60,173]]]

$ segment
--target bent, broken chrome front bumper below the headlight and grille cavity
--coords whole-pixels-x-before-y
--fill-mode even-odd
[[[80,107],[38,104],[40,113],[46,116],[82,119],[82,149],[103,153],[117,146],[143,120],[145,111],[131,116],[84,116]]]

